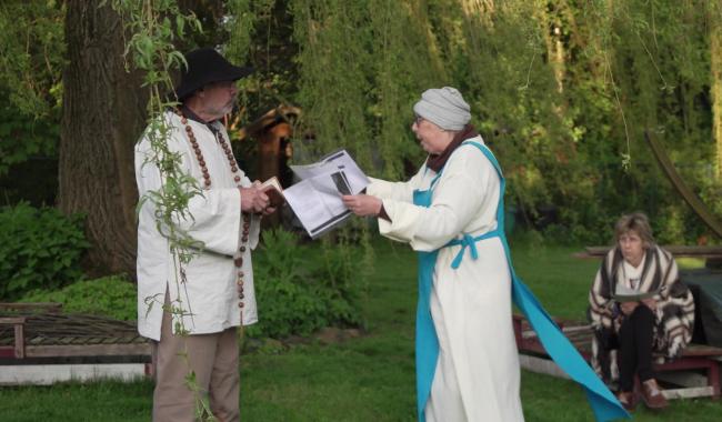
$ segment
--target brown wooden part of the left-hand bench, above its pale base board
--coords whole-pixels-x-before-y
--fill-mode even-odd
[[[96,315],[64,314],[59,312],[60,307],[0,303],[0,359],[150,362],[151,345],[138,334],[136,324]]]

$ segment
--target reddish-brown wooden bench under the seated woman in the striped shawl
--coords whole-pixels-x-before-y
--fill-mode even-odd
[[[591,325],[559,320],[556,323],[571,343],[576,348],[576,350],[579,350],[580,354],[589,361],[591,359],[593,335]],[[514,336],[517,338],[517,346],[521,354],[521,362],[524,368],[556,376],[564,375],[561,370],[549,360],[549,355],[537,338],[537,333],[531,329],[523,316],[517,314],[513,315],[513,328]],[[680,376],[665,376],[665,374],[676,371],[702,371],[704,373],[704,385],[699,385],[700,383],[695,382],[693,385],[682,385],[680,389],[668,389],[664,391],[664,395],[668,399],[693,396],[712,396],[719,399],[720,360],[722,360],[721,348],[690,344],[676,360],[662,364],[654,364],[654,371],[660,374],[660,379],[662,380],[675,378],[675,383],[679,382],[682,384],[688,383],[688,381]],[[694,374],[686,378],[694,378]]]

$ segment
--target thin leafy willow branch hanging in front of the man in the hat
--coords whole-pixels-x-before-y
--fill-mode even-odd
[[[150,191],[140,199],[138,210],[150,202],[156,210],[156,225],[161,235],[170,242],[174,271],[174,287],[178,300],[168,307],[164,304],[164,293],[146,298],[144,302],[150,312],[154,304],[161,304],[164,312],[171,313],[176,332],[188,335],[184,316],[192,319],[191,303],[185,292],[185,271],[188,264],[203,247],[202,242],[193,240],[188,232],[179,228],[181,220],[192,219],[188,211],[189,201],[201,195],[198,181],[188,175],[181,167],[181,155],[173,152],[168,142],[171,128],[163,113],[177,102],[164,93],[173,92],[171,71],[187,66],[183,56],[173,44],[176,37],[182,38],[185,28],[201,31],[201,24],[193,14],[183,14],[176,1],[168,0],[112,0],[112,8],[123,19],[124,33],[130,38],[126,41],[126,58],[131,60],[132,68],[143,72],[143,87],[150,91],[147,111],[149,115],[144,137],[150,141],[150,154],[144,165],[152,164],[160,171],[162,184],[158,191]],[[127,63],[127,69],[131,67]],[[182,298],[185,298],[183,301]],[[181,353],[188,361],[188,352]],[[195,395],[195,413],[199,419],[213,421],[208,398],[199,389],[192,370],[185,376],[185,385]]]

